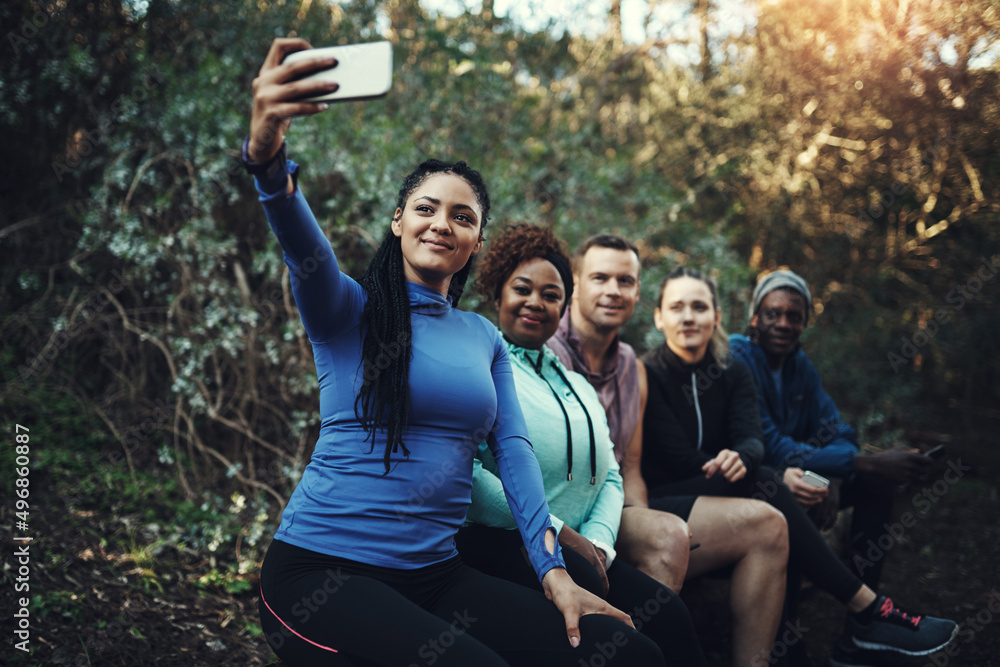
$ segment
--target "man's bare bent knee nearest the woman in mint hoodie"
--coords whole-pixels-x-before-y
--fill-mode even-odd
[[[626,507],[615,548],[626,563],[680,592],[691,543],[687,524],[679,516],[648,507]]]

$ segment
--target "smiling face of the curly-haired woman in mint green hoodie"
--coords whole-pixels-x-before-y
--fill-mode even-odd
[[[522,262],[497,300],[500,331],[515,345],[537,350],[555,335],[565,302],[565,286],[551,262],[541,257]]]

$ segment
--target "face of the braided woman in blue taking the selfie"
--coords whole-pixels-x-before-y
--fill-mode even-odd
[[[451,277],[483,245],[481,218],[476,193],[464,178],[440,173],[424,179],[392,220],[406,279],[447,294]]]

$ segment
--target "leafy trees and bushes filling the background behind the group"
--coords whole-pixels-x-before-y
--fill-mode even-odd
[[[38,11],[7,3],[0,17]],[[311,348],[239,162],[275,36],[394,43],[388,97],[333,105],[288,136],[346,272],[384,234],[403,175],[427,156],[466,159],[497,226],[638,242],[643,304],[625,336],[639,348],[659,342],[656,288],[677,264],[719,278],[730,331],[753,275],[789,265],[818,304],[808,349],[873,438],[931,418],[928,405],[996,402],[981,359],[1000,344],[1000,281],[972,290],[1000,250],[998,72],[983,58],[1000,18],[985,0],[915,3],[905,21],[854,0],[766,3],[752,29],[701,25],[700,62],[671,57],[655,21],[630,44],[614,17],[596,35],[529,32],[415,0],[111,1],[45,17],[0,70],[0,128],[20,156],[3,161],[0,409],[71,444],[49,454],[55,469],[88,450],[105,466],[84,476],[93,488],[127,478],[117,508],[144,485],[187,503],[190,532],[171,539],[250,540],[318,431]],[[883,33],[905,38],[872,41]],[[942,57],[942,35],[971,46]],[[253,499],[234,515],[251,528],[219,521],[233,492]]]

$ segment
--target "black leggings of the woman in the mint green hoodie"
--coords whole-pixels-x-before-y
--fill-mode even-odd
[[[468,526],[458,531],[455,543],[467,565],[541,590],[516,530]],[[667,664],[685,667],[705,664],[691,615],[673,591],[617,559],[608,568],[609,587],[605,596],[604,584],[594,566],[572,549],[563,549],[562,553],[573,581],[629,614],[636,629],[656,642],[667,656]]]

